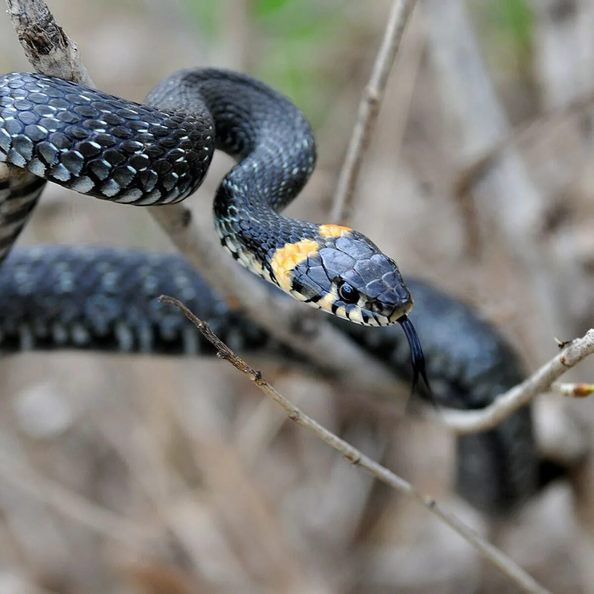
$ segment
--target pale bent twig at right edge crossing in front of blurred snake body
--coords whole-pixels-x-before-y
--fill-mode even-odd
[[[590,328],[583,337],[572,340],[559,355],[545,363],[527,380],[498,396],[486,408],[441,410],[438,420],[460,435],[491,429],[539,394],[549,391],[558,377],[592,353],[594,353],[594,329]],[[588,384],[578,385],[588,386]],[[586,396],[586,394],[583,395]]]

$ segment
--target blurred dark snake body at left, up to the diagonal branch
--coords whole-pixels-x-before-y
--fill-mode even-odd
[[[0,351],[213,353],[179,312],[156,301],[163,293],[238,349],[272,342],[178,255],[50,245],[15,249],[0,267]]]

